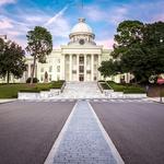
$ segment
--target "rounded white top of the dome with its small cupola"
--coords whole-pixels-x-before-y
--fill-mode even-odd
[[[92,33],[93,31],[92,28],[85,23],[85,19],[79,19],[79,23],[77,25],[73,26],[73,28],[71,30],[71,34],[74,33]]]

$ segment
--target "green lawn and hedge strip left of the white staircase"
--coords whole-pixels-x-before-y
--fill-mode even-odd
[[[0,84],[0,98],[16,98],[17,92],[40,92],[50,89],[61,89],[65,81],[54,81],[51,83],[37,83],[30,85],[27,83]]]

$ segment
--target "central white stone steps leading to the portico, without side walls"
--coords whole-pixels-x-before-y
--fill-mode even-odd
[[[67,82],[63,92],[52,98],[104,98],[96,82]]]

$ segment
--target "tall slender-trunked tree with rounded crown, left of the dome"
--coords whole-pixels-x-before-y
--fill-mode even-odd
[[[45,63],[46,56],[52,50],[52,37],[51,34],[42,26],[35,26],[33,31],[27,32],[27,47],[26,50],[34,57],[34,63],[32,69],[31,84],[33,83],[36,60]]]

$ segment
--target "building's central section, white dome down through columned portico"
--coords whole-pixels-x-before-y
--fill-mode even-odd
[[[99,78],[103,46],[94,42],[95,35],[84,19],[79,19],[67,46],[61,46],[65,56],[65,77],[67,81],[96,81]]]

